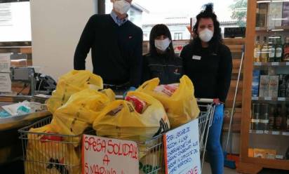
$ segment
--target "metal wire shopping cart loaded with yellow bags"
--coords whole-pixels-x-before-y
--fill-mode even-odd
[[[206,152],[208,131],[213,121],[213,100],[198,100],[199,145],[201,166]],[[41,128],[51,123],[51,117],[37,121],[19,130],[22,140],[25,173],[81,173],[81,135],[36,133],[31,128]],[[86,131],[92,135],[95,131]],[[140,173],[165,173],[163,158],[163,135],[151,140],[137,142],[140,157]]]

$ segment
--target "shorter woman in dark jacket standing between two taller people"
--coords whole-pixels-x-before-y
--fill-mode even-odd
[[[155,25],[149,36],[149,53],[143,58],[142,81],[159,77],[161,84],[178,83],[182,60],[175,55],[172,36],[166,25]]]

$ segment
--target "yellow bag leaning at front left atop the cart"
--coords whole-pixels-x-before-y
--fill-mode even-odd
[[[114,95],[113,91],[107,89],[105,92],[86,89],[74,93],[65,105],[54,112],[51,121],[53,131],[63,135],[80,135],[86,128],[92,127],[102,109],[112,101],[107,93]]]

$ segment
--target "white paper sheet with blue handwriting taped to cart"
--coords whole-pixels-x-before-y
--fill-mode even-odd
[[[163,142],[166,174],[201,173],[198,119],[168,131]]]

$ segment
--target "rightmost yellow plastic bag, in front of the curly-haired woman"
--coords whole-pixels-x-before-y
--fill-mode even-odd
[[[194,85],[188,76],[182,76],[180,86],[171,96],[155,92],[154,89],[158,85],[159,79],[154,78],[145,81],[136,91],[152,95],[163,104],[172,128],[181,126],[199,116],[200,110],[194,97]]]

